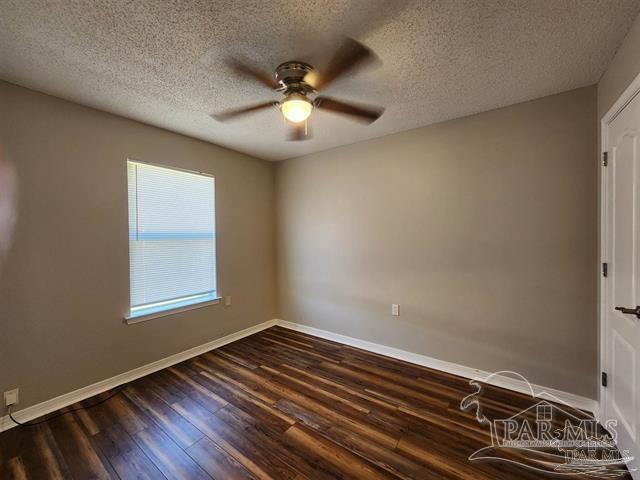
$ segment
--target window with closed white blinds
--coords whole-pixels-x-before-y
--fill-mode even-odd
[[[129,319],[216,300],[213,177],[127,162]]]

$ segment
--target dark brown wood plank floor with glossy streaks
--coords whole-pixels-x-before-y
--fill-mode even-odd
[[[0,434],[0,478],[546,478],[468,461],[490,443],[459,409],[473,391],[463,378],[274,327],[99,406]],[[499,418],[528,402],[493,387],[484,398]]]

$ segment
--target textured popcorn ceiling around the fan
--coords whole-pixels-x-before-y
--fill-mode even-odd
[[[637,0],[0,0],[0,78],[278,160],[596,83],[639,10]],[[320,67],[342,35],[382,65],[326,94],[386,106],[374,124],[315,112],[313,140],[287,142],[275,110],[209,116],[278,98],[233,76],[226,57]]]

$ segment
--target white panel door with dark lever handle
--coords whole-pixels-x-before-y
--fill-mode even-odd
[[[640,467],[640,95],[604,125],[605,199],[603,392],[605,419],[618,422],[618,447]],[[640,471],[632,474],[640,479]]]

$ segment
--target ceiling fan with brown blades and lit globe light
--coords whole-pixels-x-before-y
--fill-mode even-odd
[[[338,77],[375,59],[375,54],[369,48],[352,38],[346,38],[323,72],[319,72],[305,62],[288,61],[280,64],[275,74],[271,76],[237,60],[230,60],[228,65],[236,73],[252,77],[281,93],[284,98],[279,102],[264,102],[227,110],[212,117],[224,122],[241,115],[275,107],[282,112],[285,120],[292,126],[289,140],[307,140],[311,137],[308,119],[314,109],[348,115],[354,120],[370,124],[380,118],[384,108],[355,105],[317,95],[317,93]]]

